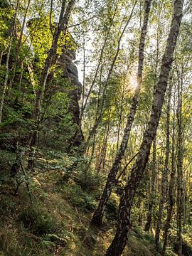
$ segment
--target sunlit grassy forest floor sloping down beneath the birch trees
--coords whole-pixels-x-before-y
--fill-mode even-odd
[[[13,183],[6,182],[6,178],[1,181],[1,256],[105,254],[114,236],[117,195],[112,194],[103,227],[92,227],[90,218],[97,206],[98,191],[87,192],[72,178],[58,182],[62,175],[58,171],[39,174],[30,183],[30,193],[23,182],[16,195]],[[125,255],[159,255],[153,235],[133,227]],[[170,248],[167,255],[175,254]]]

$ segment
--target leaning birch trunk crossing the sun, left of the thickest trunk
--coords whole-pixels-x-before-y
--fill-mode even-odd
[[[149,12],[151,8],[151,0],[145,0],[144,1],[144,23],[142,26],[142,33],[140,36],[140,43],[139,43],[139,63],[138,63],[138,73],[137,73],[137,88],[134,92],[133,102],[131,106],[131,110],[129,112],[129,115],[127,117],[127,124],[124,129],[124,136],[122,139],[122,144],[119,147],[119,151],[116,155],[116,159],[114,160],[114,163],[112,165],[112,169],[110,169],[110,173],[107,178],[107,183],[105,185],[104,191],[102,193],[102,197],[100,199],[99,206],[97,207],[97,210],[95,210],[94,215],[92,216],[92,223],[95,223],[97,225],[102,224],[102,217],[105,212],[105,207],[108,199],[110,198],[110,194],[112,193],[112,187],[114,186],[115,178],[117,176],[117,172],[119,170],[119,165],[121,164],[121,161],[124,157],[124,152],[127,149],[127,142],[129,139],[129,134],[132,128],[132,124],[134,122],[134,115],[137,110],[138,100],[139,100],[139,92],[142,85],[142,71],[143,71],[143,65],[144,65],[144,45],[145,45],[145,39],[146,39],[146,31],[147,31],[147,25],[149,21]]]

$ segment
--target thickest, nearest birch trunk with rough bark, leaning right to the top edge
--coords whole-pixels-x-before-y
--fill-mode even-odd
[[[171,29],[166,43],[166,49],[161,63],[161,71],[159,75],[159,82],[156,85],[156,92],[154,94],[154,101],[151,109],[151,116],[144,132],[143,142],[137,156],[137,160],[132,168],[132,172],[124,187],[124,193],[119,203],[119,221],[117,224],[117,232],[105,256],[119,256],[122,254],[129,230],[132,226],[131,210],[134,195],[137,191],[139,183],[144,174],[146,163],[149,159],[151,144],[156,135],[156,129],[159,124],[161,109],[164,103],[164,95],[166,92],[167,82],[169,79],[169,72],[174,58],[174,50],[179,33],[183,10],[183,0],[174,1],[174,14],[171,21]]]

